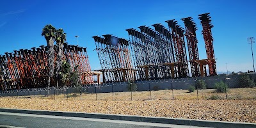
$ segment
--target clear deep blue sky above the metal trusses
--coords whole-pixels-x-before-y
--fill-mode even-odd
[[[0,4],[0,54],[16,49],[30,49],[46,45],[41,36],[42,28],[52,24],[63,28],[67,42],[88,47],[88,56],[93,70],[99,69],[99,58],[92,36],[113,34],[129,38],[128,28],[151,26],[165,20],[176,19],[184,27],[182,18],[193,17],[198,30],[200,59],[206,58],[202,26],[198,14],[210,12],[212,36],[217,58],[217,71],[253,70],[252,52],[246,38],[256,36],[256,1],[182,1],[182,0],[130,0],[130,1],[49,1],[49,0],[2,0]],[[256,47],[253,44],[253,49]],[[256,56],[256,54],[255,54]]]

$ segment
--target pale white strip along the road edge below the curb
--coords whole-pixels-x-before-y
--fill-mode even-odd
[[[32,117],[40,117],[40,118],[59,118],[59,119],[67,119],[67,120],[86,120],[86,121],[92,121],[92,122],[109,122],[109,123],[116,123],[116,124],[147,125],[147,126],[154,126],[154,127],[200,128],[200,127],[189,126],[189,125],[160,124],[160,123],[149,123],[149,122],[132,122],[132,121],[124,121],[124,120],[108,120],[108,119],[99,119],[99,118],[35,115],[35,114],[24,114],[24,113],[0,112],[0,115],[32,116]]]

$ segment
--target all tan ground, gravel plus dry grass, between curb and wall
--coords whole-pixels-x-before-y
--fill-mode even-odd
[[[152,92],[99,93],[95,94],[56,95],[49,97],[2,97],[0,108],[38,109],[52,111],[77,111],[86,113],[106,113],[122,115],[162,116],[171,118],[190,118],[201,120],[220,120],[229,122],[256,123],[256,88],[237,88],[228,90],[228,100],[225,93],[215,93],[214,90],[174,90],[175,100],[172,100],[172,90]],[[221,100],[207,100],[212,95],[218,95]],[[75,97],[76,96],[76,97]],[[236,100],[234,100],[236,99]]]

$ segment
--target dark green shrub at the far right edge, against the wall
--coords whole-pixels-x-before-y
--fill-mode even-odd
[[[239,79],[239,88],[252,88],[255,86],[254,80],[247,74],[241,74]]]

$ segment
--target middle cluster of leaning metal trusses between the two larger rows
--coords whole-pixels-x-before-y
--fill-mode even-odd
[[[134,81],[129,42],[112,35],[93,36],[102,70],[103,82]]]

